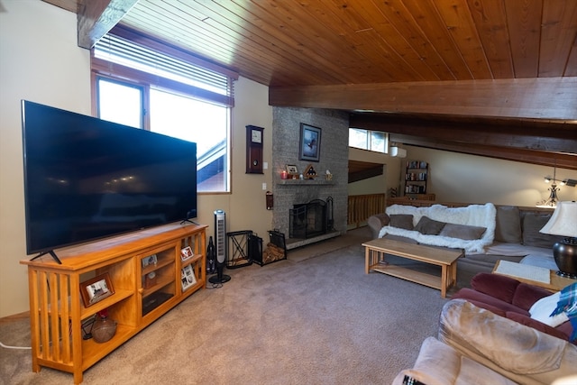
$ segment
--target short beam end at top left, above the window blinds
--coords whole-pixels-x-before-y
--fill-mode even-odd
[[[78,47],[90,50],[120,22],[138,0],[90,0],[78,3]]]

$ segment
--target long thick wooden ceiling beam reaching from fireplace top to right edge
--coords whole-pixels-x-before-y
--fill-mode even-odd
[[[577,77],[270,87],[269,104],[577,123]]]

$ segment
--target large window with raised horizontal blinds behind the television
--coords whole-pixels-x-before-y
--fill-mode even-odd
[[[98,117],[197,142],[198,192],[230,191],[237,74],[118,27],[96,43],[91,67]]]

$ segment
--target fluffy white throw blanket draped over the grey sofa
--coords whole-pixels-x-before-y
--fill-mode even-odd
[[[495,238],[495,218],[497,215],[497,209],[492,203],[466,207],[447,207],[443,205],[433,205],[428,207],[392,205],[387,207],[385,212],[388,215],[413,215],[413,226],[416,226],[421,217],[425,215],[435,221],[456,225],[480,226],[487,228],[487,230],[482,235],[481,239],[464,240],[440,235],[421,234],[414,230],[405,230],[387,225],[380,229],[379,238],[382,238],[386,234],[400,235],[414,239],[418,243],[464,249],[465,252],[469,253],[484,252],[484,248],[493,243],[493,239]]]

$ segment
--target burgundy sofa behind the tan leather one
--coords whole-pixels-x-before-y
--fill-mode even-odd
[[[572,325],[569,321],[551,327],[536,321],[529,315],[529,308],[537,300],[553,294],[550,291],[507,276],[485,272],[478,273],[472,278],[471,288],[460,289],[451,299],[465,299],[498,316],[505,316],[522,325],[531,326],[548,335],[569,341],[572,333]]]

